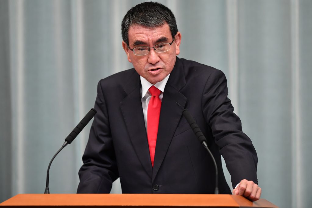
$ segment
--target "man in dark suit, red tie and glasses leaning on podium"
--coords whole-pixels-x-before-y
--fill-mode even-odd
[[[257,155],[227,98],[224,74],[179,59],[181,33],[165,6],[144,2],[122,21],[122,46],[133,69],[100,80],[94,122],[79,171],[78,193],[213,193],[215,168],[183,117],[187,108],[218,166],[220,193],[259,199]]]

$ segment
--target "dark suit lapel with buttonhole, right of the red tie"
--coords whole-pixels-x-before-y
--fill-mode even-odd
[[[163,92],[160,110],[159,127],[155,150],[155,160],[152,175],[154,181],[157,172],[167,153],[173,134],[182,116],[187,98],[179,92],[186,84],[183,65],[177,57],[174,68]]]

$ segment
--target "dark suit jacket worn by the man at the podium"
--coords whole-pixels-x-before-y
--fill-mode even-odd
[[[78,193],[109,193],[118,177],[123,193],[213,193],[215,168],[183,117],[185,108],[216,159],[220,193],[231,193],[220,153],[233,187],[242,179],[257,183],[257,154],[233,113],[222,71],[177,57],[163,92],[154,168],[140,90],[134,68],[100,80]]]

